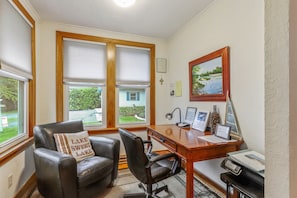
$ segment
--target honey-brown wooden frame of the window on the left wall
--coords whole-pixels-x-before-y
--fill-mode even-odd
[[[24,8],[19,0],[12,0],[11,3],[15,7],[17,12],[31,23],[31,63],[32,63],[32,79],[29,79],[25,83],[24,89],[28,89],[24,97],[27,98],[25,105],[26,118],[24,125],[24,136],[15,138],[7,143],[5,149],[0,153],[0,165],[6,163],[17,154],[22,152],[28,146],[32,145],[33,139],[33,127],[36,124],[36,46],[35,46],[35,20]]]

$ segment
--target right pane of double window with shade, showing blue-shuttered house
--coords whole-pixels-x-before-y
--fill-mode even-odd
[[[118,45],[116,48],[118,124],[148,123],[150,50]],[[123,97],[124,95],[126,97]]]

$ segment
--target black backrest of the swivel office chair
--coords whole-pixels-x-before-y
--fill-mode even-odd
[[[119,128],[119,133],[124,143],[130,171],[139,181],[147,183],[146,165],[149,160],[144,152],[142,139],[125,129]]]

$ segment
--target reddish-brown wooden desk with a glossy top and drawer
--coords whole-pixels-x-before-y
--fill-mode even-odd
[[[186,197],[194,197],[193,163],[226,156],[239,150],[242,141],[210,143],[197,138],[210,134],[194,129],[182,129],[176,125],[152,125],[147,127],[148,139],[153,138],[186,161]]]

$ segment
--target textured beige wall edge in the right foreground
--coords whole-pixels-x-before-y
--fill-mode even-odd
[[[297,197],[296,1],[265,1],[266,197]]]

